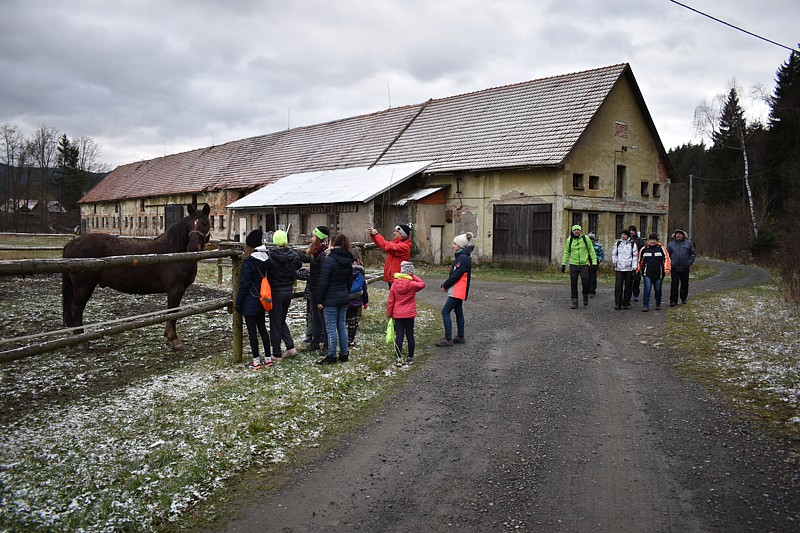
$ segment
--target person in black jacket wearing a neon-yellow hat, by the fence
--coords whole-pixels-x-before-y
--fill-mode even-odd
[[[272,330],[272,361],[275,364],[280,363],[285,356],[297,354],[286,317],[292,305],[294,283],[297,281],[297,271],[301,263],[300,255],[293,248],[289,248],[288,241],[289,236],[286,232],[278,230],[272,235],[274,246],[269,249],[267,277],[272,287],[269,325]],[[281,355],[281,341],[286,345],[286,352],[283,355]]]

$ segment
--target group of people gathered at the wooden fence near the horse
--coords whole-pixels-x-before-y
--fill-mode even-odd
[[[375,228],[370,227],[368,232],[375,245],[386,253],[383,273],[383,279],[389,285],[386,315],[394,321],[396,362],[401,364],[403,345],[406,344],[408,355],[405,362],[411,364],[416,348],[416,294],[425,288],[425,282],[416,275],[410,261],[411,226],[395,226],[392,240],[385,239]],[[310,323],[307,328],[307,347],[303,351],[321,348],[325,356],[317,361],[320,365],[347,362],[350,348],[355,344],[359,315],[369,305],[360,249],[352,247],[346,235],[339,234],[331,238],[326,226],[314,228],[311,244],[304,252],[287,246],[288,238],[284,231],[273,234],[272,247],[267,247],[263,238],[263,232],[256,229],[245,239],[239,290],[234,303],[247,326],[253,356],[247,367],[251,370],[269,368],[279,364],[284,357],[297,354],[286,318],[298,276],[306,280],[305,295]],[[472,239],[473,234],[468,232],[453,240],[454,260],[450,275],[440,286],[448,296],[442,307],[444,338],[437,341],[436,346],[465,342],[463,302],[469,294],[472,275]],[[301,270],[302,263],[310,265],[307,271]],[[269,280],[272,288],[269,330],[266,326],[267,313],[259,299],[259,287],[264,278]],[[451,313],[456,316],[455,337]],[[264,357],[259,355],[259,339],[264,347]],[[281,343],[286,348],[283,353]]]

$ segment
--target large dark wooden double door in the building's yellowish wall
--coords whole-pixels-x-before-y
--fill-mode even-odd
[[[492,260],[499,263],[549,263],[553,206],[494,206]]]

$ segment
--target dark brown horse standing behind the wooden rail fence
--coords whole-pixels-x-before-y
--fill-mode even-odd
[[[66,258],[85,258],[202,251],[211,236],[211,225],[208,221],[211,209],[208,205],[199,211],[193,205],[188,208],[188,216],[151,242],[126,242],[112,235],[90,233],[68,242],[64,246],[63,255]],[[83,310],[98,285],[128,294],[167,293],[167,308],[172,309],[180,306],[186,288],[194,282],[196,275],[196,261],[63,274],[64,325],[68,328],[83,325]],[[83,333],[83,329],[75,332]],[[173,350],[186,347],[178,339],[175,320],[167,322],[164,336]]]

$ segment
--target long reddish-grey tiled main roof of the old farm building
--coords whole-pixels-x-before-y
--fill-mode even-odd
[[[625,73],[635,86],[627,64],[613,65],[122,165],[81,201],[253,189],[375,163],[433,161],[433,172],[558,165]]]

